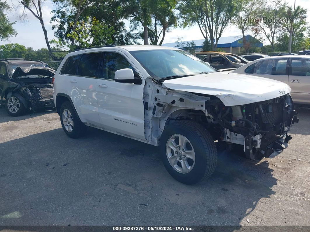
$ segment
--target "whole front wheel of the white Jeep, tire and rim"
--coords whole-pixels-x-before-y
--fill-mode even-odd
[[[217,151],[210,133],[194,121],[168,125],[160,138],[165,168],[177,181],[194,184],[210,177],[217,163]]]

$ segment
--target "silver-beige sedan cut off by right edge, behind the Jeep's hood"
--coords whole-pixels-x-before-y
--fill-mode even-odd
[[[292,89],[294,103],[310,105],[310,57],[288,55],[266,57],[248,63],[232,73],[266,77],[281,81]]]

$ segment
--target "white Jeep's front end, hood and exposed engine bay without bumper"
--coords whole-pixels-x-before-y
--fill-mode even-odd
[[[208,130],[218,141],[242,145],[252,160],[284,150],[292,138],[287,132],[298,122],[290,87],[279,81],[213,72],[167,80],[162,85],[209,96],[205,105]]]

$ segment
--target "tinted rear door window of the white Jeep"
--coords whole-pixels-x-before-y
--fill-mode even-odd
[[[78,76],[101,77],[103,52],[82,54],[78,64]]]

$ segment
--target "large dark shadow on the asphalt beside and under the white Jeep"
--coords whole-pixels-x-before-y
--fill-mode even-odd
[[[238,226],[277,185],[268,162],[228,152],[209,179],[184,185],[157,147],[94,128],[79,139],[60,128],[0,146],[0,225]]]

